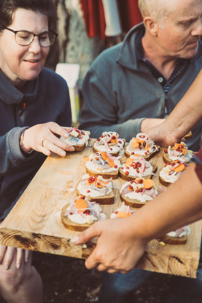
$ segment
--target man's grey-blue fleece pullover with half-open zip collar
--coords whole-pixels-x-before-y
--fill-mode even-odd
[[[161,84],[144,62],[136,60],[135,37],[143,28],[143,23],[133,27],[122,43],[102,52],[84,78],[82,93],[85,102],[79,127],[91,131],[91,137],[98,138],[103,131],[115,131],[129,141],[140,132],[144,118],[167,117]],[[197,54],[172,83],[167,95],[168,114],[200,72],[201,50],[199,42]],[[193,138],[186,141],[193,150],[198,149],[201,128],[202,122],[192,130]]]

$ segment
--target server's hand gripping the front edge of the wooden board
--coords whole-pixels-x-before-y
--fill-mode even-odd
[[[131,216],[132,217],[132,216]],[[82,244],[98,236],[97,246],[85,261],[88,269],[96,267],[109,273],[127,273],[144,254],[146,241],[138,239],[128,228],[129,218],[114,218],[94,223],[90,228],[71,239]]]

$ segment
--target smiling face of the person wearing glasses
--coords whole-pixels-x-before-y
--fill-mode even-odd
[[[30,10],[18,9],[13,13],[13,22],[8,28],[39,35],[48,31],[48,17]],[[0,68],[15,86],[22,86],[26,81],[38,77],[48,51],[48,47],[39,44],[37,36],[30,45],[22,46],[16,43],[13,32],[4,29],[0,33]]]

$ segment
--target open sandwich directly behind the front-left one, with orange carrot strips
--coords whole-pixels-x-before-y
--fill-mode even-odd
[[[84,175],[85,177],[86,175]],[[79,181],[76,187],[77,195],[85,195],[89,201],[99,204],[114,204],[114,192],[112,189],[112,178],[104,179],[102,176],[94,175]]]

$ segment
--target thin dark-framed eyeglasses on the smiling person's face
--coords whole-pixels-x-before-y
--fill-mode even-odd
[[[35,35],[27,31],[13,31],[11,28],[4,27],[3,25],[1,25],[1,27],[15,33],[16,43],[23,46],[31,44],[31,42],[34,40],[34,37],[38,36],[38,41],[41,46],[50,47],[55,43],[55,39],[58,37],[58,34],[52,30],[50,30],[48,33]]]

